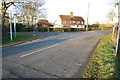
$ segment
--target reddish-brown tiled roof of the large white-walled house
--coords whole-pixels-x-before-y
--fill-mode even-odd
[[[84,21],[84,19],[80,16],[73,16],[71,17],[70,15],[60,15],[60,18],[65,21],[65,20],[73,20],[73,21]]]

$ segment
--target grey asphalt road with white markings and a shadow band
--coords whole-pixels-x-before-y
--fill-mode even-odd
[[[58,35],[4,48],[2,77],[80,78],[98,42],[109,33],[57,33]]]

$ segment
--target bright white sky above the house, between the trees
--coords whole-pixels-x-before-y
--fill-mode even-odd
[[[47,0],[48,20],[54,22],[58,15],[69,15],[73,12],[75,16],[81,16],[87,19],[88,3],[89,23],[96,21],[105,22],[107,13],[110,11],[111,0]]]

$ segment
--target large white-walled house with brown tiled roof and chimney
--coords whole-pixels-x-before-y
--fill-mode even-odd
[[[70,15],[59,15],[54,23],[54,28],[85,28],[85,20],[80,16],[74,16],[73,12]]]

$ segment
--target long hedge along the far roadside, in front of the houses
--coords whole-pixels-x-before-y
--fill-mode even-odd
[[[14,24],[12,26],[14,31]],[[16,31],[17,32],[32,32],[32,31],[38,31],[38,32],[77,32],[77,31],[86,31],[86,28],[43,28],[38,27],[34,28],[32,26],[23,25],[20,23],[16,24]],[[88,31],[101,31],[101,28],[88,28]],[[112,28],[103,28],[104,31],[112,31]]]

